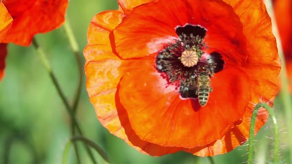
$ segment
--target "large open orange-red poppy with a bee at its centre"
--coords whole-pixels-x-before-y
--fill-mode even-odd
[[[87,91],[102,125],[152,156],[214,156],[243,144],[253,104],[273,101],[279,87],[265,5],[118,3],[92,19],[84,49]],[[267,118],[262,110],[256,132]]]

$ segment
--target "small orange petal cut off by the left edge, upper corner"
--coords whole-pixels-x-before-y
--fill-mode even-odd
[[[12,24],[12,17],[9,15],[7,9],[4,4],[0,1],[0,42],[7,35],[8,30]]]

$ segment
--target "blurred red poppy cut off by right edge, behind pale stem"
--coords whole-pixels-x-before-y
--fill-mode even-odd
[[[274,12],[287,63],[290,90],[292,91],[292,21],[289,21],[292,20],[292,0],[275,0]]]

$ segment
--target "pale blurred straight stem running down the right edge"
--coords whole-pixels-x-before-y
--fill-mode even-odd
[[[286,125],[288,127],[288,138],[292,138],[292,104],[291,104],[291,99],[290,99],[290,89],[289,89],[289,80],[287,76],[287,69],[286,69],[286,62],[285,62],[285,56],[283,52],[283,47],[281,43],[281,38],[279,35],[278,27],[275,21],[275,15],[274,15],[274,10],[273,10],[273,3],[272,0],[265,0],[267,10],[269,12],[269,15],[272,19],[272,26],[273,26],[273,33],[275,35],[276,41],[277,41],[277,46],[278,46],[278,52],[281,58],[282,62],[282,69],[280,73],[280,78],[281,78],[281,99],[282,103],[284,106],[285,110],[285,120],[286,120]],[[289,147],[290,150],[292,150],[292,139],[289,139]],[[290,160],[292,161],[292,151],[290,151]]]

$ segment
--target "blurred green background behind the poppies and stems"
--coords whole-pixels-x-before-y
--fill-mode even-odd
[[[116,0],[72,0],[67,19],[82,49],[87,43],[87,28],[98,12],[117,9]],[[78,67],[69,42],[61,27],[48,34],[37,35],[40,46],[48,55],[53,72],[66,97],[72,103],[78,82]],[[83,56],[82,60],[84,63]],[[83,77],[85,80],[85,76]],[[281,161],[288,161],[289,138],[285,133],[281,104],[275,107],[281,130]],[[111,135],[98,122],[94,107],[83,82],[78,121],[85,136],[95,141],[108,154],[113,164],[208,164],[208,158],[198,158],[179,152],[163,157],[139,153],[123,140]],[[265,164],[272,159],[273,133],[271,121],[260,130],[255,142],[255,163]],[[40,57],[33,46],[8,46],[5,77],[0,82],[0,163],[9,164],[60,164],[64,146],[71,137],[70,118],[52,84]],[[83,164],[91,161],[82,144],[78,143]],[[214,157],[216,164],[241,164],[247,160],[247,144],[234,151]],[[98,163],[103,164],[97,153]],[[73,147],[69,163],[76,164]]]

